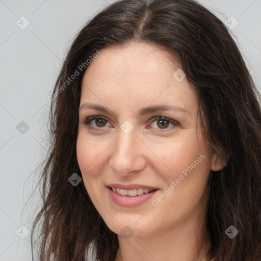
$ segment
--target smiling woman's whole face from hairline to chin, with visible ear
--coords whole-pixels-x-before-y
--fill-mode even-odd
[[[131,43],[102,49],[85,72],[77,161],[96,210],[119,235],[192,220],[206,207],[211,169],[223,167],[180,68],[168,51]]]

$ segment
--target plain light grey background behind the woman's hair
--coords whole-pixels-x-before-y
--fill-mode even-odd
[[[30,234],[21,239],[16,231],[26,232],[21,225],[30,230],[39,210],[38,190],[29,197],[37,181],[34,170],[46,154],[47,97],[71,39],[89,18],[112,2],[0,0],[0,261],[31,260]],[[231,34],[260,90],[261,0],[198,2],[223,22],[230,16],[238,20]],[[30,22],[24,30],[16,25],[21,16]],[[21,121],[29,125],[24,134],[16,128]]]

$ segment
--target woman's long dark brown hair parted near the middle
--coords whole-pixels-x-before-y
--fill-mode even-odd
[[[102,53],[102,48],[131,41],[164,47],[178,57],[196,90],[206,139],[228,159],[225,168],[210,173],[206,224],[212,245],[207,260],[260,260],[259,93],[226,26],[192,0],[113,3],[73,40],[51,97],[50,149],[39,181],[43,205],[32,227],[32,254],[33,234],[40,223],[37,260],[85,260],[93,248],[95,258],[114,261],[117,234],[96,211],[84,183],[74,187],[68,178],[73,173],[81,177],[76,139],[86,61],[97,50]],[[75,70],[79,75],[64,85]],[[231,225],[239,230],[233,239],[225,233]]]

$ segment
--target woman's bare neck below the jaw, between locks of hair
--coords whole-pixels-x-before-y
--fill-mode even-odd
[[[118,235],[119,248],[115,261],[169,260],[201,261],[211,247],[202,213],[193,215],[173,227],[153,231],[145,237],[124,238]]]

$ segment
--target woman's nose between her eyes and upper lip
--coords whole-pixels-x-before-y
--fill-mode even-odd
[[[133,171],[144,169],[146,165],[143,154],[144,144],[137,137],[135,128],[129,134],[125,134],[120,129],[119,137],[113,143],[112,149],[109,165],[115,173],[127,176]]]

